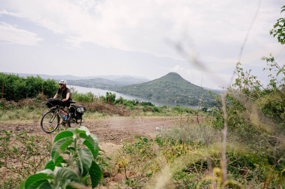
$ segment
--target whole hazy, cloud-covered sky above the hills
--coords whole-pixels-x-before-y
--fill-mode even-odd
[[[0,72],[151,80],[177,72],[191,83],[200,85],[204,78],[203,86],[217,88],[229,84],[251,26],[240,61],[266,83],[260,58],[272,53],[279,64],[285,62],[285,46],[269,34],[285,17],[284,5],[284,0],[0,0]]]

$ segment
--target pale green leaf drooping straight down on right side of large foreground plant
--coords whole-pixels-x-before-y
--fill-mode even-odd
[[[87,175],[91,167],[92,154],[88,149],[80,148],[78,149],[77,155],[78,155],[78,159],[76,159],[77,166],[79,168],[81,176],[84,177],[85,175]]]

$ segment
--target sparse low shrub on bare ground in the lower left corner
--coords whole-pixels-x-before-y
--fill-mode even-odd
[[[13,184],[10,188],[15,188],[27,176],[41,170],[50,155],[50,141],[28,133],[22,131],[20,134],[12,135],[10,131],[0,131],[1,135],[4,134],[0,137],[0,168],[6,168],[12,173]],[[2,184],[1,182],[0,187],[4,187]]]

